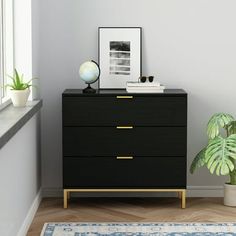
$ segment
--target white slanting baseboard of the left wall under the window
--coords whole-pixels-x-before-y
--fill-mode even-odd
[[[42,189],[39,190],[38,194],[36,195],[26,217],[24,222],[22,223],[22,226],[17,234],[17,236],[25,236],[29,230],[29,227],[34,219],[35,213],[38,210],[38,207],[42,200]]]

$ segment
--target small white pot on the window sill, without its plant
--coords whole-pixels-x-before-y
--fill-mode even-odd
[[[10,90],[10,97],[14,107],[24,107],[28,101],[30,89]]]

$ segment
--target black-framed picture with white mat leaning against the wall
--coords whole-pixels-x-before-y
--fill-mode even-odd
[[[100,27],[98,55],[100,89],[125,88],[142,74],[142,28]]]

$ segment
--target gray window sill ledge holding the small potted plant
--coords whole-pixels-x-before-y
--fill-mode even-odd
[[[42,100],[30,101],[26,107],[7,106],[0,111],[0,149],[42,107]]]

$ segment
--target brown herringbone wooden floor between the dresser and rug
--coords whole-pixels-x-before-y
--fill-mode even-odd
[[[44,199],[28,236],[40,235],[45,222],[236,222],[236,208],[221,198],[189,198],[181,209],[177,198]]]

